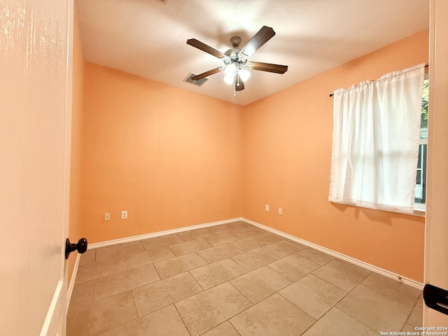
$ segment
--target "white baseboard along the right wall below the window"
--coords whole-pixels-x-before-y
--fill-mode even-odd
[[[409,286],[412,286],[414,288],[417,288],[419,290],[423,290],[423,283],[420,283],[419,281],[415,281],[413,279],[409,279],[406,276],[401,276],[400,274],[393,273],[393,272],[388,271],[386,269],[382,269],[380,267],[377,267],[377,266],[374,266],[374,265],[370,265],[367,262],[363,262],[361,260],[358,260],[358,259],[355,259],[355,258],[351,258],[348,255],[344,255],[342,253],[339,253],[339,252],[336,252],[336,251],[332,251],[329,248],[325,248],[323,246],[311,243],[311,242],[306,241],[304,239],[300,239],[300,238],[294,237],[292,235],[288,235],[285,232],[281,232],[279,230],[275,230],[273,228],[269,228],[269,226],[265,226],[265,225],[262,225],[260,223],[256,223],[256,222],[248,220],[246,218],[241,218],[241,221],[244,221],[244,222],[246,222],[248,224],[252,224],[252,225],[258,226],[258,228],[262,228],[262,229],[267,230],[269,232],[275,233],[276,235],[288,238],[288,239],[290,239],[292,241],[296,241],[297,243],[300,243],[300,244],[303,244],[303,245],[315,248],[318,251],[321,251],[323,253],[330,254],[330,255],[332,255],[332,256],[334,256],[336,258],[339,258],[339,259],[351,262],[354,265],[357,265],[357,266],[369,269],[372,272],[375,272],[375,273],[387,276],[388,278],[394,279],[396,281],[400,281],[402,283],[405,283],[405,284],[407,284]]]

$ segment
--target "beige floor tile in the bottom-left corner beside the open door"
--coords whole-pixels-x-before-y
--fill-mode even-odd
[[[98,335],[137,318],[132,292],[92,302],[85,309],[67,315],[67,336]]]

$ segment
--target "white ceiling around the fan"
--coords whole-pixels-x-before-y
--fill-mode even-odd
[[[75,0],[87,62],[246,105],[351,59],[428,29],[429,0]],[[225,52],[263,26],[276,36],[249,61],[288,65],[283,75],[251,71],[233,96],[224,73],[183,82],[223,62],[186,44]]]

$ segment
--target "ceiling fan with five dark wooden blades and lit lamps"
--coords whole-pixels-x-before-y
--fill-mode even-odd
[[[244,80],[251,76],[251,73],[248,70],[285,73],[288,70],[287,65],[248,62],[248,58],[251,57],[251,55],[258,50],[258,48],[269,41],[269,39],[274,35],[274,29],[263,26],[258,33],[255,34],[246,45],[244,45],[242,49],[238,48],[239,43],[241,43],[241,38],[239,38],[239,36],[233,36],[230,38],[233,48],[224,53],[211,48],[209,45],[202,43],[201,41],[197,41],[196,38],[190,38],[187,40],[187,44],[192,45],[193,47],[204,52],[208,52],[210,55],[218,57],[224,62],[223,66],[218,66],[215,69],[200,73],[199,75],[191,77],[191,79],[200,80],[207,76],[213,75],[214,73],[225,71],[224,81],[228,84],[234,84],[234,95],[236,95],[237,91],[244,90]]]

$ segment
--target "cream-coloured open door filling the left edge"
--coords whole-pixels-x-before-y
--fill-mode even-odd
[[[0,1],[4,336],[65,335],[70,1]]]

